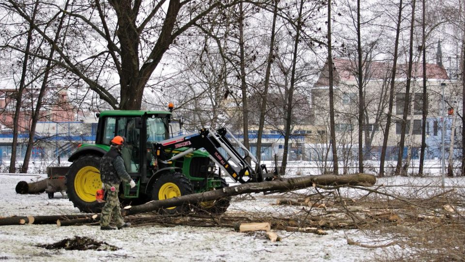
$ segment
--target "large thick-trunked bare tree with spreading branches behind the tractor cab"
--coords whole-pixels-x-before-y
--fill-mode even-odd
[[[196,23],[208,23],[209,19],[202,18],[213,10],[233,6],[240,1],[159,0],[149,4],[145,1],[110,0],[107,3],[97,0],[81,5],[66,14],[91,30],[92,33],[82,34],[89,38],[83,41],[91,41],[90,37],[95,37],[93,40],[105,43],[97,49],[88,49],[88,53],[66,49],[67,45],[64,48],[55,45],[17,1],[8,2],[55,49],[60,56],[54,60],[55,63],[80,78],[110,107],[140,109],[144,88],[165,52],[176,43],[176,38]],[[105,59],[107,55],[108,60]],[[118,74],[119,99],[109,92],[108,86],[99,83],[98,76],[84,70],[89,66],[108,66],[111,69],[109,73]]]

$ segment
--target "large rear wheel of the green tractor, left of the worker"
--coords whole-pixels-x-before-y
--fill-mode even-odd
[[[84,213],[99,213],[105,203],[97,202],[95,195],[102,188],[100,156],[80,156],[69,167],[66,175],[66,194],[69,201]]]

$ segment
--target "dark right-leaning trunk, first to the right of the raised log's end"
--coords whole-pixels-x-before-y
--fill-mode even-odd
[[[381,149],[381,160],[379,164],[379,176],[384,177],[384,163],[386,161],[387,140],[389,138],[389,129],[391,128],[392,107],[394,105],[394,87],[396,84],[396,69],[397,69],[397,56],[399,50],[399,35],[401,32],[402,21],[402,0],[399,2],[399,14],[397,16],[396,40],[394,43],[394,59],[392,62],[392,74],[389,88],[389,105],[387,110],[386,131],[383,138],[383,147]]]

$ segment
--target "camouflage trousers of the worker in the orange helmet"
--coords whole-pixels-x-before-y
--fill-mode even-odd
[[[119,184],[104,184],[105,192],[107,193],[107,201],[105,206],[102,209],[102,214],[100,215],[100,226],[107,227],[111,222],[113,217],[116,226],[121,227],[124,225],[123,216],[121,215],[120,200],[118,199],[118,190]],[[111,188],[113,191],[111,191]]]

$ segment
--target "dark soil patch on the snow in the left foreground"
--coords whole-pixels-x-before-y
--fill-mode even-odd
[[[117,246],[109,245],[103,241],[96,241],[89,237],[66,238],[59,242],[48,245],[37,245],[47,249],[65,249],[65,250],[98,250],[98,251],[115,251],[120,249]]]

